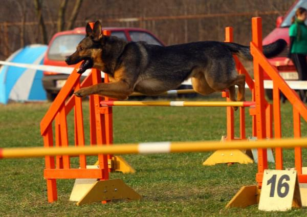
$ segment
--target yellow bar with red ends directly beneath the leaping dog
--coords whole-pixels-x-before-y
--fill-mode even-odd
[[[254,102],[204,102],[204,101],[101,101],[102,106],[238,106],[247,107]]]

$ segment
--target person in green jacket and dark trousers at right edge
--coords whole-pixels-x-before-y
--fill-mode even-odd
[[[305,20],[307,10],[298,8],[295,11],[295,16],[292,18],[292,25],[289,28],[290,46],[287,55],[286,64],[289,64],[290,59],[298,73],[299,80],[307,80],[307,26]],[[306,90],[299,91],[300,98],[303,102],[307,102]]]

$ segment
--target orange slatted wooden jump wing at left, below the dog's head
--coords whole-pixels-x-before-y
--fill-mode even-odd
[[[109,31],[104,31],[103,33],[110,35]],[[92,69],[91,74],[80,83],[81,75],[77,73],[80,64],[81,62],[76,64],[72,74],[41,120],[40,130],[46,148],[53,146],[67,147],[69,145],[67,115],[71,112],[72,108],[74,108],[75,146],[82,147],[85,144],[82,99],[70,95],[73,91],[80,88],[101,82],[101,72],[97,69]],[[107,82],[107,76],[105,76],[105,82]],[[100,107],[99,102],[101,100],[102,97],[98,95],[90,96],[89,100],[91,146],[110,145],[113,143],[112,107]],[[55,132],[55,135],[53,132]],[[75,168],[72,168],[71,156],[45,157],[46,168],[44,170],[44,177],[47,181],[49,202],[57,200],[57,179],[108,180],[109,171],[111,170],[122,171],[121,169],[124,168],[124,172],[134,172],[133,168],[130,168],[127,162],[120,157],[99,154],[98,168],[95,169],[86,168],[86,156],[79,155],[74,157],[79,158],[79,165]]]

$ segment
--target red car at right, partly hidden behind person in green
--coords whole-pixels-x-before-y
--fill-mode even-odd
[[[270,44],[271,42],[277,40],[278,38],[286,40],[289,45],[289,40],[290,40],[289,27],[291,26],[291,18],[294,16],[295,10],[298,7],[307,8],[307,0],[296,1],[288,10],[286,15],[277,17],[276,28],[264,38],[264,40],[262,41],[263,45]],[[278,69],[280,76],[284,80],[298,80],[298,74],[293,65],[293,62],[291,61],[289,65],[284,63],[284,60],[286,60],[287,58],[288,52],[289,52],[289,47],[287,47],[287,49],[285,49],[277,57],[269,59],[269,61],[273,66],[275,66]],[[264,79],[270,80],[270,77],[265,73]],[[272,90],[267,89],[266,93],[268,98],[272,99]]]

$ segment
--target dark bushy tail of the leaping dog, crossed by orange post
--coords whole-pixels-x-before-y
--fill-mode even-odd
[[[242,57],[247,60],[253,60],[253,56],[251,55],[250,47],[239,45],[232,42],[225,42],[225,45],[228,47],[228,49],[238,55],[239,57]],[[287,42],[283,39],[278,39],[274,41],[273,43],[269,45],[265,45],[262,47],[262,52],[264,55],[268,58],[274,57],[281,53],[284,48],[286,48]]]

